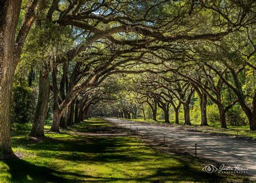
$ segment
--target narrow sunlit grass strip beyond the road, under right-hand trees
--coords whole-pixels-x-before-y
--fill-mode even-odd
[[[159,119],[158,121],[153,120],[144,120],[144,119],[125,119],[124,120],[130,120],[130,121],[138,121],[140,123],[154,123],[154,124],[164,124],[163,119]],[[174,121],[170,122],[174,124]],[[179,125],[183,125],[184,121],[180,120]],[[209,126],[200,126],[200,123],[191,121],[192,126],[183,126],[184,129],[191,129],[191,130],[197,130],[201,132],[213,132],[217,134],[224,134],[224,135],[233,135],[233,136],[240,136],[240,137],[250,137],[250,138],[256,138],[256,132],[250,131],[249,125],[245,126],[231,126],[227,125],[227,128],[221,128],[219,123],[211,123],[209,122]],[[197,128],[196,128],[197,127]]]

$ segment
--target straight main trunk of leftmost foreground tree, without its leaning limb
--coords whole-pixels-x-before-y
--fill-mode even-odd
[[[11,149],[11,91],[20,55],[15,54],[15,33],[21,1],[0,1],[0,155]],[[16,56],[16,57],[15,57]]]

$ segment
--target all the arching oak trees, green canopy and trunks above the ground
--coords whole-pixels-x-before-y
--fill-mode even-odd
[[[43,137],[46,121],[59,132],[95,115],[256,130],[253,0],[0,6],[3,154],[11,123]]]

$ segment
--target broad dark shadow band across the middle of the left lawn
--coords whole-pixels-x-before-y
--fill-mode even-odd
[[[62,159],[70,161],[117,162],[139,161],[137,157],[130,157],[129,150],[137,140],[127,137],[70,137],[70,139],[45,138],[35,142],[26,137],[19,138],[16,146],[24,144],[25,150],[35,151],[38,156],[45,158]],[[14,147],[16,147],[14,146]],[[136,144],[136,146],[140,146]],[[145,146],[141,145],[140,150]],[[45,151],[46,150],[46,151]],[[65,153],[62,153],[65,152]],[[96,154],[96,155],[92,155]],[[150,154],[140,154],[150,155]]]

